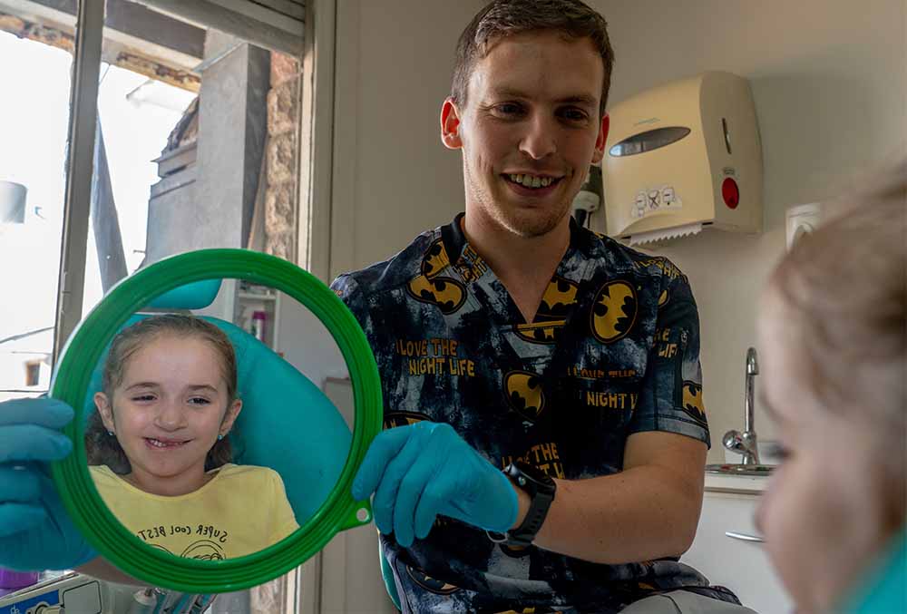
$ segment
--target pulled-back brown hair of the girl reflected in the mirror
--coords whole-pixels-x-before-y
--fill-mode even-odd
[[[142,346],[154,338],[172,335],[196,337],[210,344],[220,357],[220,371],[227,383],[227,404],[237,399],[236,352],[228,336],[218,326],[210,324],[200,317],[180,314],[145,317],[132,326],[123,328],[113,337],[110,352],[104,361],[102,391],[107,395],[108,403],[113,405],[113,393],[122,384],[126,365],[130,358]],[[108,434],[101,413],[93,412],[85,427],[85,453],[88,464],[105,464],[114,473],[125,474],[132,471],[132,465],[123,452],[117,438]],[[208,452],[205,459],[205,471],[229,463],[233,460],[233,448],[229,435],[219,440]]]

